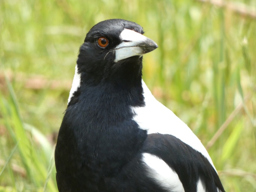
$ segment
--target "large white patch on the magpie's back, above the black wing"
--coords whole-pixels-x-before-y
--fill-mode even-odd
[[[144,90],[145,106],[131,107],[135,114],[133,120],[138,123],[139,127],[148,130],[148,134],[170,134],[177,137],[203,154],[212,164],[213,168],[215,168],[208,152],[191,129],[170,109],[155,99],[143,80],[142,88]]]

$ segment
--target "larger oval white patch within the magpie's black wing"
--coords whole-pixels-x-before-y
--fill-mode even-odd
[[[155,179],[160,186],[170,191],[183,192],[184,188],[178,174],[162,159],[155,155],[144,153],[142,160],[148,165],[149,177]]]

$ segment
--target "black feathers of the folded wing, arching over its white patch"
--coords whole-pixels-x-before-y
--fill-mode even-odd
[[[185,192],[196,192],[199,179],[207,192],[217,192],[217,188],[224,192],[219,176],[207,158],[175,136],[149,134],[143,152],[164,160],[178,174]]]

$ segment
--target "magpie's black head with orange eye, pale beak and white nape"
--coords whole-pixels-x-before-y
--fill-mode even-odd
[[[80,47],[74,78],[80,82],[73,81],[70,98],[82,84],[141,80],[142,55],[157,48],[143,33],[140,25],[123,19],[109,19],[93,26]]]

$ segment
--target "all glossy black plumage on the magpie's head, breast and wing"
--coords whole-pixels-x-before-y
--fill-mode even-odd
[[[198,179],[209,192],[216,192],[216,187],[224,191],[200,152],[175,136],[148,134],[133,120],[131,107],[145,106],[142,57],[115,61],[124,29],[144,33],[134,22],[111,19],[95,25],[80,47],[80,85],[71,95],[55,150],[59,191],[175,191],[150,176],[144,153],[175,170],[186,192],[197,190]],[[96,43],[102,36],[110,42],[104,49]],[[150,40],[144,43],[139,46],[145,53],[156,48]]]

